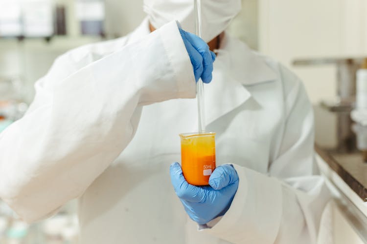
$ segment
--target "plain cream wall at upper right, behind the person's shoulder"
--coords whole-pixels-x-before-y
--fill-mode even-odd
[[[365,0],[259,0],[259,49],[294,70],[312,102],[336,95],[333,65],[292,67],[296,58],[367,56]]]

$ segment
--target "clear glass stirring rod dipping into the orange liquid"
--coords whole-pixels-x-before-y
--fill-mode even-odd
[[[195,7],[195,34],[202,38],[202,12],[201,0],[194,0]],[[199,133],[205,132],[205,102],[204,102],[204,83],[201,79],[196,83],[196,96],[198,100],[198,122]]]

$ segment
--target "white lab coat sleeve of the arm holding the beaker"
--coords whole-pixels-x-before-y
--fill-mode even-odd
[[[292,87],[285,97],[278,155],[269,175],[234,165],[240,180],[231,206],[217,224],[203,230],[218,238],[249,244],[316,243],[330,194],[315,170],[312,106],[301,81],[287,72],[284,76]]]

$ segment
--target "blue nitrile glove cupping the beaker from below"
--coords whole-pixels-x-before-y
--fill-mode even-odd
[[[239,182],[237,172],[231,164],[218,166],[211,174],[208,186],[187,183],[179,163],[171,164],[170,175],[186,213],[198,224],[206,224],[227,212]]]

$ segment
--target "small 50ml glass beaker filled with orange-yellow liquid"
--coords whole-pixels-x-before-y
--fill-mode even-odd
[[[181,166],[189,184],[208,185],[215,169],[215,133],[186,133],[181,137]]]

